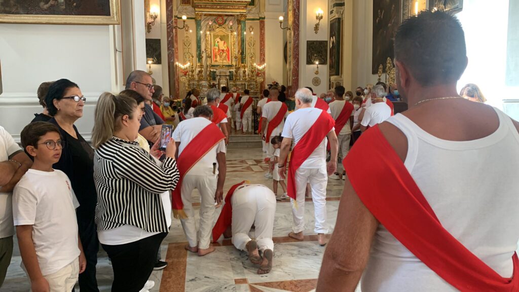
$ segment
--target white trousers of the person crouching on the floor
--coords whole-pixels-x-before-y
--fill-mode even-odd
[[[258,249],[274,251],[272,230],[276,215],[276,195],[265,185],[248,185],[234,192],[231,204],[233,204],[234,246],[246,250],[245,245],[251,241],[249,231],[254,224]]]

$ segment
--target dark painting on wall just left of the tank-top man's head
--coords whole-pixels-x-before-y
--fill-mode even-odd
[[[373,0],[373,54],[371,72],[378,73],[378,65],[394,58],[394,36],[400,25],[399,1]]]

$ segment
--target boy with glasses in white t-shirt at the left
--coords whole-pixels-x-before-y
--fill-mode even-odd
[[[37,143],[27,141],[41,134],[42,128],[49,131],[33,140]],[[50,123],[37,122],[21,134],[22,145],[34,157],[34,164],[13,190],[12,209],[22,268],[30,277],[32,291],[69,292],[86,268],[78,241],[75,209],[79,203],[69,178],[52,169],[62,149],[57,131]]]

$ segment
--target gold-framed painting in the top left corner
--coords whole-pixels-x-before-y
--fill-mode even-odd
[[[0,0],[0,22],[120,24],[120,0]]]

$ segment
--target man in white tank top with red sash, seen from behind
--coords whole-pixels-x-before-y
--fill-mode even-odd
[[[363,273],[362,292],[517,291],[519,123],[458,95],[466,52],[443,11],[400,26],[395,69],[409,110],[348,154],[318,292],[354,291]]]

